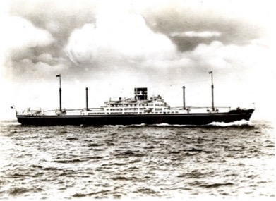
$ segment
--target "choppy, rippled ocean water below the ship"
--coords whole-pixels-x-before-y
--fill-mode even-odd
[[[0,199],[275,199],[275,128],[0,122]]]

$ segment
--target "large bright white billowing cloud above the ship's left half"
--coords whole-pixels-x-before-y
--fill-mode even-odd
[[[168,37],[155,33],[138,13],[120,6],[100,8],[95,24],[71,33],[66,54],[74,63],[143,61],[176,54]]]

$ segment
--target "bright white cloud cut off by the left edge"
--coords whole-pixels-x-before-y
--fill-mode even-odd
[[[29,20],[18,16],[3,15],[0,24],[1,80],[4,80],[4,77],[13,78],[16,69],[21,68],[14,66],[14,61],[28,59],[31,49],[47,47],[54,42],[54,38],[47,30],[37,28]],[[27,66],[20,69],[20,73],[28,71],[28,68]]]

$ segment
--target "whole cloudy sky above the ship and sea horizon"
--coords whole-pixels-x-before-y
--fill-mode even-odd
[[[0,119],[16,109],[103,106],[148,87],[170,106],[256,107],[274,117],[272,1],[10,0],[0,3]]]

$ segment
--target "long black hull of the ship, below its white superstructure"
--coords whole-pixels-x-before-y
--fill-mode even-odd
[[[181,124],[206,125],[212,122],[248,121],[253,109],[232,110],[212,114],[144,114],[144,115],[93,115],[93,116],[24,116],[18,115],[22,125],[56,126],[56,125],[133,125],[133,124]]]

